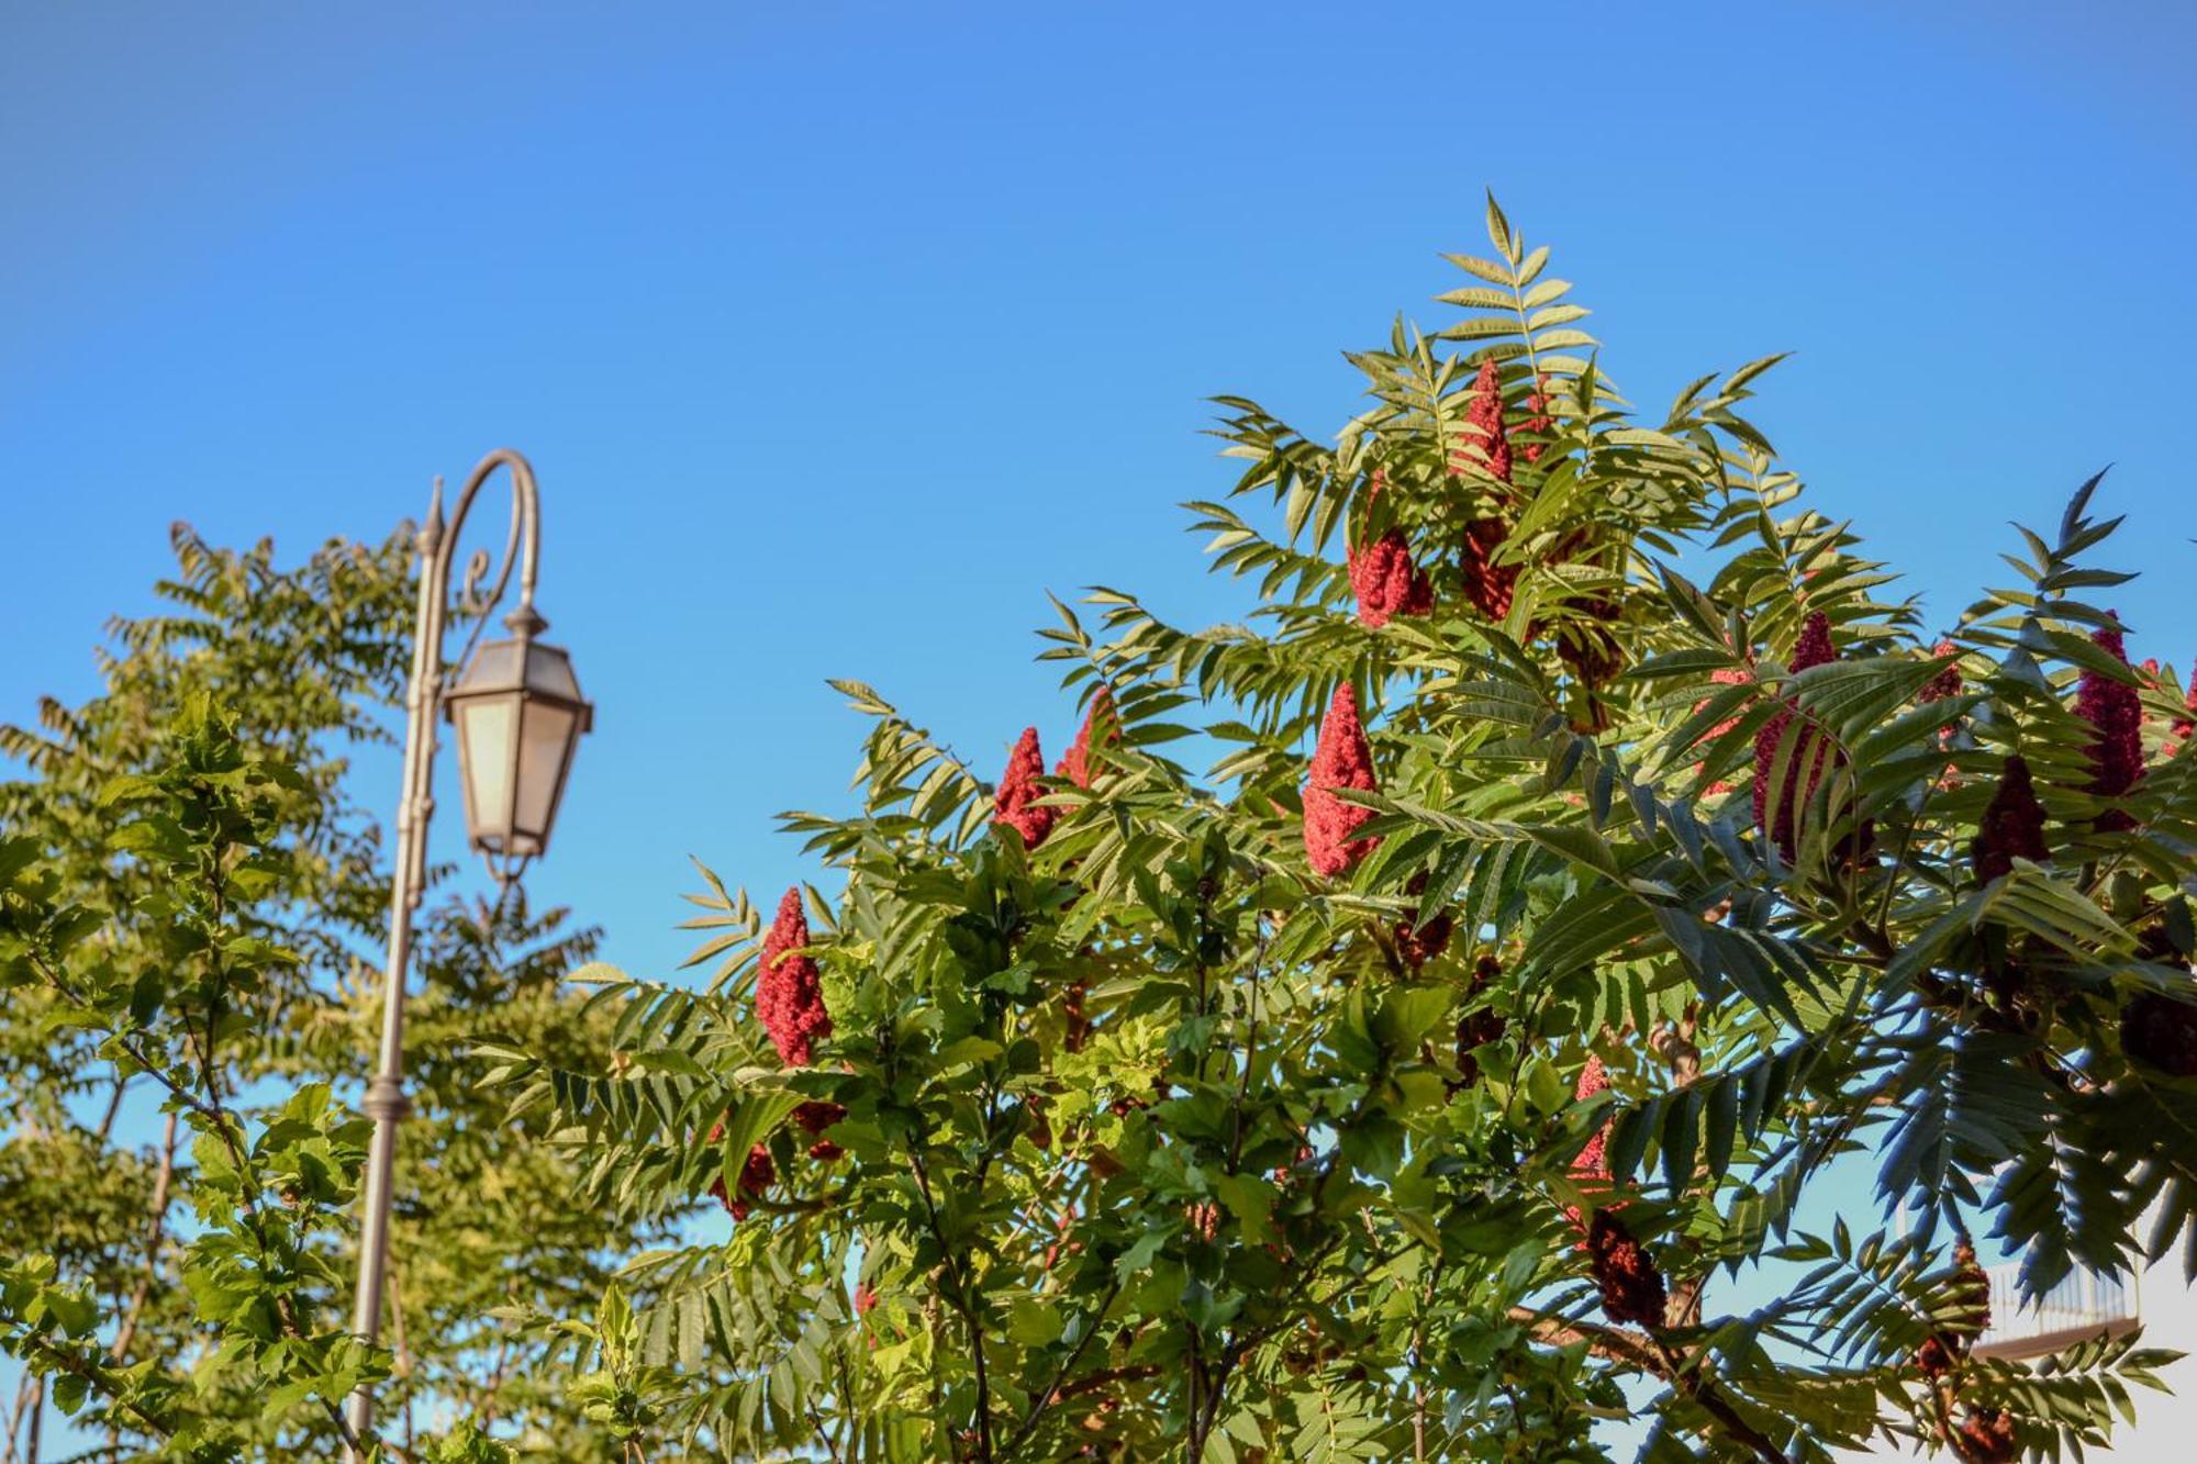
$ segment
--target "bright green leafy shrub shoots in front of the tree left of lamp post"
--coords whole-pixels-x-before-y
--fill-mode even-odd
[[[105,787],[101,802],[125,813],[110,846],[147,870],[147,899],[160,906],[158,972],[110,961],[94,941],[103,921],[59,899],[57,870],[35,866],[31,840],[0,846],[13,868],[0,895],[0,985],[37,987],[48,1029],[81,1031],[119,1075],[158,1084],[165,1112],[189,1130],[196,1233],[182,1279],[209,1358],[255,1380],[259,1422],[277,1440],[343,1433],[343,1398],[384,1374],[327,1306],[343,1284],[327,1235],[356,1198],[365,1125],[325,1084],[255,1123],[222,1079],[222,1042],[268,974],[297,963],[231,908],[272,879],[261,855],[303,794],[292,769],[253,754],[202,695],[178,717],[163,765]],[[55,1376],[68,1413],[97,1402],[105,1420],[147,1429],[182,1457],[233,1453],[231,1422],[193,1409],[176,1378],[110,1361],[101,1310],[88,1286],[35,1255],[0,1293],[0,1345]]]

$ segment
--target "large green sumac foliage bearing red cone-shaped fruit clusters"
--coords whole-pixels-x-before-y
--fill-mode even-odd
[[[835,1022],[811,1066],[756,1024],[760,921],[707,870],[705,989],[602,974],[609,1064],[497,1046],[606,1213],[740,1202],[729,1240],[631,1260],[604,1418],[716,1457],[1591,1460],[1641,1418],[1646,1460],[1830,1460],[1999,1407],[2061,1457],[2155,1385],[2129,1341],[1916,1367],[1979,1326],[1953,1229],[2010,1240],[2032,1290],[2131,1264],[2146,1209],[2151,1253],[2197,1238],[2197,1090],[2120,1040],[2133,994],[2197,998],[2197,789],[2166,675],[2149,776],[2089,791],[2072,684],[2135,677],[2076,598],[2118,580],[2092,490],[1931,648],[1742,415],[1775,358],[1643,418],[1547,248],[1492,202],[1490,240],[1452,257],[1461,319],[1351,354],[1367,404],[1331,446],[1219,398],[1241,477],[1191,512],[1248,622],[1055,602],[1041,655],[1118,734],[1088,787],[1044,785],[1037,849],[835,681],[872,721],[857,807],[784,820],[835,875],[808,892]],[[1373,631],[1345,563],[1386,530],[1435,611]],[[1817,613],[1841,655],[1795,670]],[[1380,844],[1320,879],[1301,787],[1342,684],[1380,789],[1338,798]],[[1171,756],[1193,732],[1202,772]],[[2010,752],[2052,857],[1979,884]],[[1430,921],[1452,936],[1421,958]],[[1610,1088],[1577,1099],[1591,1057]],[[819,1101],[846,1117],[813,1150],[791,1114]],[[1841,1158],[1914,1222],[1799,1231]],[[1582,1242],[1595,1209],[1661,1317],[1597,1306],[1621,1275]],[[1720,1315],[1764,1266],[1797,1279]]]

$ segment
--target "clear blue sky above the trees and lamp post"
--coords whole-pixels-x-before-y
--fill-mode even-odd
[[[1235,613],[1173,508],[1230,479],[1202,398],[1336,429],[1483,187],[1635,400],[1797,352],[1760,422],[1944,620],[2118,464],[2186,668],[2197,13],[1544,15],[7,7],[0,719],[94,690],[171,519],[294,558],[518,446],[600,708],[532,886],[666,974],[690,853],[815,873],[771,813],[841,798],[822,677],[989,772],[1072,730],[1044,589]]]

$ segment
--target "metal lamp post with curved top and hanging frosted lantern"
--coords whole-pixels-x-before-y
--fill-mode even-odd
[[[459,530],[481,486],[508,468],[512,475],[512,532],[503,543],[503,572],[486,594],[488,552],[466,565],[457,609],[475,620],[455,677],[442,659],[450,613],[450,565]],[[389,1187],[398,1156],[398,1123],[411,1112],[404,1099],[404,974],[411,965],[411,921],[426,892],[426,831],[435,813],[435,712],[457,725],[459,778],[466,785],[466,833],[488,859],[497,884],[510,884],[527,862],[549,849],[549,827],[565,796],[565,776],[580,734],[595,708],[580,697],[571,657],[536,635],[549,622],[534,609],[534,569],[540,558],[540,503],[534,468],[512,448],[497,448],[466,477],[442,517],[442,479],[417,536],[420,615],[413,626],[411,688],[404,699],[404,791],[398,800],[395,879],[389,897],[389,965],[382,972],[380,1066],[367,1084],[373,1147],[367,1152],[365,1222],[358,1238],[358,1297],[352,1332],[373,1343],[382,1330],[382,1277],[389,1268]],[[479,646],[488,613],[503,600],[518,567],[518,607],[503,618],[510,640]],[[373,1389],[352,1394],[352,1431],[365,1440],[373,1424]],[[356,1460],[356,1455],[354,1455]]]

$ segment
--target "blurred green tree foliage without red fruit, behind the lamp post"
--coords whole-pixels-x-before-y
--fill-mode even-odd
[[[0,783],[0,1255],[31,1363],[7,1446],[46,1389],[116,1455],[323,1460],[321,1405],[371,1369],[393,1457],[428,1446],[415,1416],[453,1413],[497,1449],[615,1457],[567,1367],[499,1317],[584,1310],[615,1251],[655,1238],[573,1207],[545,1128],[479,1090],[486,1040],[611,1053],[567,983],[598,932],[518,890],[415,925],[391,1347],[341,1339],[363,1143],[345,1103],[389,903],[363,809],[387,789],[354,787],[349,750],[387,741],[402,690],[411,539],[279,567],[178,528],[176,552],[169,609],[112,626],[101,695],[0,728],[26,772]]]

